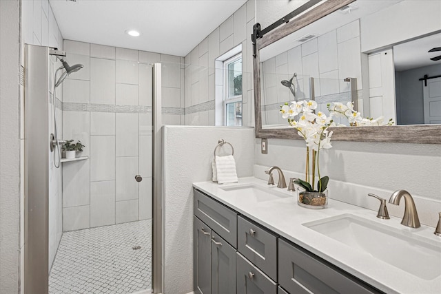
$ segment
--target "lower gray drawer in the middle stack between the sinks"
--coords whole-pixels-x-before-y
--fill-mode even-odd
[[[237,293],[276,294],[277,284],[265,273],[236,253]]]

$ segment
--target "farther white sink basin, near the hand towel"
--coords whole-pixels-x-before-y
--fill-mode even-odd
[[[220,187],[220,189],[227,191],[229,194],[236,197],[247,198],[254,202],[264,202],[292,197],[288,194],[275,191],[275,187],[262,187],[254,184],[225,186]]]

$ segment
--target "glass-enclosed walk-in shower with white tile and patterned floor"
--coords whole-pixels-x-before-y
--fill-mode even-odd
[[[160,293],[161,64],[25,45],[24,96],[24,293]]]

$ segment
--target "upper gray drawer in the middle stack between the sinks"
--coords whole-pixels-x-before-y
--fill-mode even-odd
[[[277,282],[277,237],[238,216],[238,251]]]

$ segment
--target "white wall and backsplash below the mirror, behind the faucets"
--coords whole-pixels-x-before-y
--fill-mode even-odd
[[[329,197],[378,211],[378,200],[367,197],[375,193],[389,199],[398,189],[409,191],[422,224],[435,227],[441,211],[441,145],[402,143],[333,142],[320,152],[320,174],[329,176]],[[268,140],[268,154],[260,154],[256,139],[256,178],[267,180],[265,167],[277,165],[302,177],[305,174],[304,140]],[[276,179],[277,180],[277,179]],[[421,183],[424,183],[423,185]],[[402,218],[404,203],[387,205],[392,216]]]

